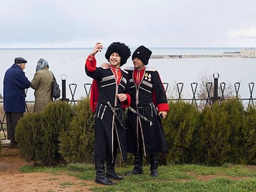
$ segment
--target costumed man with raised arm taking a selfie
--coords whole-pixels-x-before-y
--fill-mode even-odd
[[[95,54],[103,48],[96,43],[85,62],[85,72],[93,78],[90,104],[95,113],[95,182],[113,185],[108,178],[121,180],[114,170],[117,148],[124,162],[127,161],[126,129],[123,109],[130,104],[129,77],[120,69],[130,57],[130,49],[124,43],[112,43],[106,50],[108,68],[96,67]],[[105,165],[106,161],[106,173]]]

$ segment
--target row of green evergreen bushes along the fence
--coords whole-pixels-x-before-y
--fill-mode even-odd
[[[198,111],[188,102],[169,102],[162,119],[168,152],[160,164],[256,164],[256,110],[228,99]],[[20,155],[35,165],[93,162],[94,118],[90,99],[74,106],[54,102],[44,112],[26,113],[19,120],[15,140]],[[1,146],[0,146],[1,150]],[[129,163],[133,161],[129,154]],[[143,158],[148,164],[148,159]],[[120,155],[117,164],[121,164]]]

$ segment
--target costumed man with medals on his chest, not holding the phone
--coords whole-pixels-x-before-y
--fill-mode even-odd
[[[139,46],[132,54],[134,67],[127,67],[130,81],[131,104],[135,112],[127,112],[127,151],[134,154],[134,169],[128,174],[143,173],[142,156],[150,157],[151,176],[157,177],[158,152],[167,151],[163,125],[169,105],[160,75],[155,69],[145,67],[151,51]]]

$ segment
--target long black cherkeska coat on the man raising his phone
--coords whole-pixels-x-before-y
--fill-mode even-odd
[[[87,67],[87,63],[90,65],[90,62],[95,62],[96,67],[96,60],[90,61],[87,59],[85,72],[89,77],[96,80],[98,86],[98,102],[95,111],[95,161],[114,161],[114,153],[116,148],[119,148],[122,160],[126,162],[126,130],[121,127],[107,102],[109,101],[111,106],[117,108],[117,115],[123,118],[122,103],[116,98],[116,94],[129,93],[128,74],[122,71],[121,81],[117,84],[111,69],[96,67],[95,71],[92,72]]]

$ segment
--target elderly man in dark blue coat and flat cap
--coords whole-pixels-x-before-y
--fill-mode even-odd
[[[25,89],[30,81],[23,70],[27,61],[22,57],[14,59],[14,64],[4,75],[4,111],[6,112],[7,139],[15,142],[15,127],[25,112]]]

